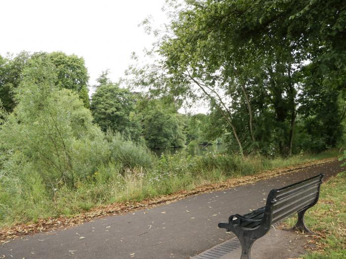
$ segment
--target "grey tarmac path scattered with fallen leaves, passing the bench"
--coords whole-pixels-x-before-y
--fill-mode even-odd
[[[66,230],[27,235],[0,245],[0,258],[13,259],[188,259],[233,237],[217,223],[234,213],[263,206],[274,187],[324,173],[340,163],[318,165],[252,185],[204,193],[169,205],[87,222]],[[323,186],[323,185],[322,185]]]

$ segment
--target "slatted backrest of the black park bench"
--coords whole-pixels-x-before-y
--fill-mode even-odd
[[[270,221],[270,225],[273,225],[315,205],[323,176],[320,174],[293,185],[271,190],[266,201],[263,220]]]

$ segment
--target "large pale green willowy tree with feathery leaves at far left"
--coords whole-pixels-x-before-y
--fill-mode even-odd
[[[94,173],[108,144],[78,95],[55,85],[55,65],[28,60],[14,89],[17,106],[0,123],[1,170],[18,182],[32,178],[51,192]]]

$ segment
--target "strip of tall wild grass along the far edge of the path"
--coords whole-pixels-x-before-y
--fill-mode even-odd
[[[125,152],[121,154],[126,156]],[[162,156],[153,160],[150,168],[125,167],[124,163],[103,164],[92,175],[76,181],[73,186],[60,185],[53,190],[47,188],[42,179],[32,172],[25,175],[22,185],[9,178],[7,183],[4,182],[6,185],[0,186],[0,227],[60,215],[71,217],[100,205],[141,201],[179,190],[192,190],[207,183],[219,183],[337,155],[337,150],[329,150],[285,159],[262,156],[242,158],[212,153],[187,158]]]

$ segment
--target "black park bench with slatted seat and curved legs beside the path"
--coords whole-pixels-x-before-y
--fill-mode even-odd
[[[251,259],[251,246],[265,235],[271,226],[298,213],[298,221],[293,229],[312,233],[304,223],[304,213],[314,206],[319,197],[323,174],[288,185],[272,189],[266,205],[250,213],[231,215],[228,222],[218,223],[218,227],[232,231],[242,246],[240,259]]]

